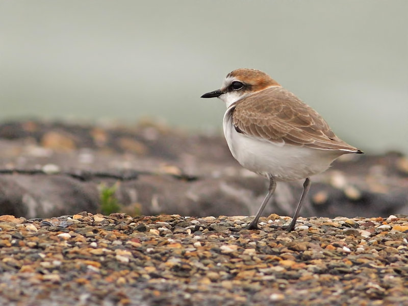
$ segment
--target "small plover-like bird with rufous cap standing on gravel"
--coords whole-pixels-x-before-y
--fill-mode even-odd
[[[278,181],[303,180],[303,191],[291,223],[310,188],[311,175],[325,171],[343,154],[364,152],[337,137],[310,106],[284,89],[263,71],[240,68],[227,74],[221,89],[201,96],[225,102],[223,129],[234,158],[245,168],[266,176],[268,194],[247,226],[258,220]],[[273,226],[277,227],[277,226]]]

